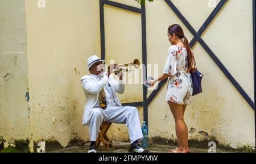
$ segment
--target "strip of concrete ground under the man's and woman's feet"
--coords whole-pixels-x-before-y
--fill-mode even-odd
[[[100,148],[97,152],[99,153],[127,153],[130,143],[129,142],[117,142],[113,141],[113,147],[111,150],[105,150],[105,147],[101,144]],[[87,153],[89,148],[89,143],[86,143],[82,146],[73,146],[69,148],[63,148],[60,150],[52,151],[52,153]],[[175,146],[168,146],[168,145],[157,145],[157,144],[150,144],[148,150],[151,153],[168,153],[170,149],[175,149]],[[208,153],[208,149],[197,149],[197,148],[190,148],[191,153]],[[225,153],[225,152],[232,152],[227,150],[217,149],[216,152],[218,153]]]

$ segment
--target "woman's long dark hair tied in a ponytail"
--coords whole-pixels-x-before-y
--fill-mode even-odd
[[[172,26],[169,26],[169,28],[168,28],[168,33],[170,33],[171,35],[175,34],[180,39],[184,38],[185,47],[187,48],[187,53],[188,53],[188,70],[189,71],[193,70],[194,69],[193,68],[193,53],[189,46],[188,39],[187,39],[187,37],[185,37],[181,26],[179,26],[179,24],[172,24]]]

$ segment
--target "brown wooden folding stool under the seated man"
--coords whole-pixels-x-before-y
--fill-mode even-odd
[[[104,122],[101,124],[100,131],[98,132],[98,137],[96,140],[96,148],[100,146],[101,142],[105,146],[106,150],[110,150],[110,148],[113,148],[112,141],[109,141],[109,138],[106,135],[106,132],[108,132],[111,124],[112,123],[109,122]]]

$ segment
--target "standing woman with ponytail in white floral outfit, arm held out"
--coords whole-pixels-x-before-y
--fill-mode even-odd
[[[152,87],[156,82],[168,78],[166,101],[174,115],[178,143],[178,148],[170,150],[170,152],[185,153],[189,152],[189,148],[188,128],[184,122],[184,112],[187,105],[191,104],[193,92],[192,78],[189,73],[190,70],[193,70],[193,53],[179,24],[168,27],[168,37],[172,46],[168,50],[163,75],[147,83],[150,83]]]

